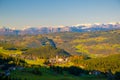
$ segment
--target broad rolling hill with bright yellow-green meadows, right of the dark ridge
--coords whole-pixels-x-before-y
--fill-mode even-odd
[[[63,32],[45,35],[52,39],[56,46],[71,55],[85,54],[90,57],[102,57],[120,53],[120,30],[95,32]]]

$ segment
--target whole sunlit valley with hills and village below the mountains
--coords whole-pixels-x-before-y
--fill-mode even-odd
[[[118,80],[119,39],[120,30],[1,35],[0,79]]]

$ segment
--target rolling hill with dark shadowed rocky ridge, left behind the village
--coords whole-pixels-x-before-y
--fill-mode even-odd
[[[42,35],[0,36],[0,52],[30,60],[70,56],[64,49],[57,48],[52,39]]]

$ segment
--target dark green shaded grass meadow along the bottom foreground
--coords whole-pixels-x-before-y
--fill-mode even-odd
[[[31,68],[32,69],[32,68]],[[30,71],[31,69],[26,69]],[[18,78],[19,80],[106,80],[103,76],[84,75],[84,76],[73,76],[68,73],[57,74],[51,71],[49,68],[41,68],[41,75],[33,74],[31,72],[25,72],[15,70],[11,72],[11,79]]]

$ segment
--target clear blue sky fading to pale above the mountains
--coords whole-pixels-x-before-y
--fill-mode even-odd
[[[120,0],[0,0],[0,26],[120,22]]]

